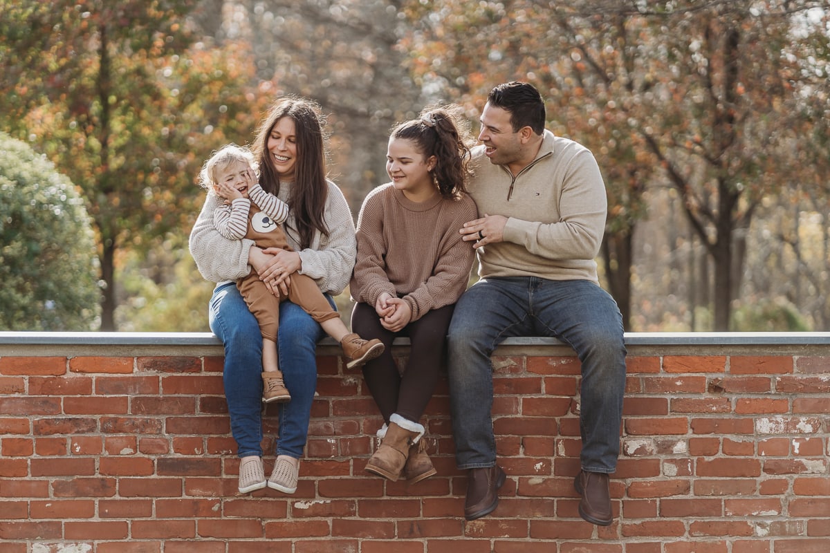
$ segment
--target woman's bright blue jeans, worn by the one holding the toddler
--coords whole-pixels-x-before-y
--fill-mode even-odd
[[[334,302],[325,294],[334,307]],[[239,457],[262,455],[262,335],[237,285],[213,290],[210,329],[225,346],[225,384],[231,433]],[[299,305],[280,304],[277,347],[291,401],[279,404],[277,455],[300,458],[308,438],[311,403],[317,387],[317,342],[325,332]]]

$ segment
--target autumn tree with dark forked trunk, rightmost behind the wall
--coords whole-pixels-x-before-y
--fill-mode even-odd
[[[804,86],[813,81],[801,71],[800,31],[826,36],[827,27],[807,17],[819,3],[826,7],[811,1],[644,2],[627,11],[602,2],[602,15],[592,9],[577,19],[602,22],[601,32],[559,25],[575,46],[571,58],[583,61],[583,73],[599,85],[588,96],[623,75],[624,86],[610,98],[614,110],[629,118],[632,133],[659,160],[713,262],[715,330],[730,329],[754,211],[791,184],[782,154],[799,119],[793,109],[801,111]],[[578,9],[584,7],[590,2]],[[602,32],[608,24],[616,32]],[[586,34],[599,39],[585,40]],[[631,52],[623,67],[606,64],[614,50]]]

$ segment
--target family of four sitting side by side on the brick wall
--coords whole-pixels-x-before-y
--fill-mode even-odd
[[[436,473],[419,420],[447,352],[452,429],[467,471],[466,520],[496,509],[506,474],[493,434],[491,353],[507,337],[557,337],[581,361],[579,514],[613,521],[625,386],[623,320],[598,284],[607,199],[593,154],[544,128],[534,86],[497,85],[470,149],[457,106],[425,109],[388,142],[391,182],[364,199],[355,230],[326,178],[323,121],[306,99],[280,99],[253,143],[207,160],[190,251],[217,282],[212,332],[225,348],[224,386],[240,460],[239,491],[293,493],[316,386],[316,344],[329,335],[361,367],[383,427],[366,470],[417,482]],[[474,256],[479,279],[466,289]],[[346,285],[352,330],[332,296]],[[391,346],[411,343],[399,372]],[[269,478],[262,402],[278,405]]]

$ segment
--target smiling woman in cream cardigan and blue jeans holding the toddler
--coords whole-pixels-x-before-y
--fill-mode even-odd
[[[317,384],[316,345],[325,336],[300,306],[280,305],[277,335],[280,366],[291,401],[279,405],[276,462],[266,480],[262,463],[261,333],[235,280],[251,267],[276,290],[291,285],[288,275],[308,275],[332,307],[354,266],[354,222],[343,193],[325,175],[325,135],[319,106],[307,99],[280,99],[262,121],[253,150],[259,184],[285,201],[283,223],[291,250],[261,250],[252,240],[227,240],[213,226],[217,196],[208,196],[190,235],[190,251],[203,276],[217,282],[209,322],[225,347],[223,380],[231,432],[240,458],[239,491],[274,488],[293,493],[308,436]],[[221,201],[221,199],[219,199]]]

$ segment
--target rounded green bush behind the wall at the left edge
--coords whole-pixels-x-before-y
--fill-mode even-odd
[[[0,329],[90,330],[96,263],[75,187],[26,143],[0,133]]]

